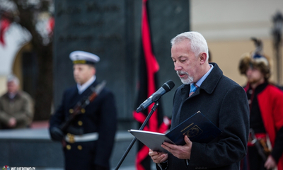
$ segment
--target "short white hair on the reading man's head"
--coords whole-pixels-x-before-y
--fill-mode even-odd
[[[195,57],[200,55],[201,52],[205,52],[207,53],[208,60],[209,54],[207,40],[205,40],[200,33],[194,31],[180,33],[171,40],[171,45],[175,45],[176,43],[181,42],[183,40],[190,40],[190,48],[192,49],[192,52],[194,52]]]

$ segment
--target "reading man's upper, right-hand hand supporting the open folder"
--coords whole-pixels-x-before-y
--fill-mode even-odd
[[[178,159],[190,159],[190,152],[192,151],[192,141],[190,141],[189,137],[185,136],[184,140],[186,142],[185,145],[173,145],[168,142],[164,142],[161,147],[171,152]]]

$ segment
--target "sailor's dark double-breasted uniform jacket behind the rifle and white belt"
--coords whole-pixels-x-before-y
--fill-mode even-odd
[[[94,81],[91,86],[96,86]],[[90,86],[90,87],[91,87]],[[83,97],[91,94],[88,87],[82,94],[78,93],[76,86],[66,91],[62,98],[62,104],[50,119],[50,129],[59,127],[70,115],[70,109]],[[109,159],[114,144],[117,113],[115,98],[111,91],[104,88],[103,91],[85,108],[86,112],[79,115],[71,125],[74,128],[83,128],[83,134],[98,132],[99,138],[92,142],[75,142],[71,149],[64,148],[66,169],[93,169],[93,165],[103,166],[109,169]],[[79,123],[80,122],[80,123]],[[78,149],[81,145],[83,149]]]

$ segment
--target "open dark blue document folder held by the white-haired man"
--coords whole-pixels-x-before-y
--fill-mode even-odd
[[[164,153],[168,151],[161,147],[163,142],[185,145],[184,137],[187,135],[192,142],[208,143],[221,134],[221,130],[200,111],[166,134],[145,130],[129,130],[129,132],[150,149]]]

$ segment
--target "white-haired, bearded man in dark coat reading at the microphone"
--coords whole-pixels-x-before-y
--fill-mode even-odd
[[[185,145],[163,142],[171,154],[149,155],[157,169],[238,170],[246,155],[248,142],[248,100],[243,87],[236,84],[216,63],[208,62],[208,47],[197,32],[186,32],[171,40],[171,58],[183,84],[173,98],[172,128],[197,111],[214,123],[221,135],[209,143],[190,141]]]

